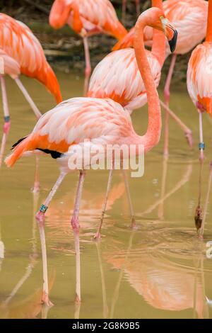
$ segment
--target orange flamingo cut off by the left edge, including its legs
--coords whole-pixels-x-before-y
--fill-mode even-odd
[[[4,134],[1,141],[0,166],[4,156],[6,138],[10,130],[11,122],[6,94],[6,82],[4,76],[8,74],[22,91],[26,100],[33,109],[35,116],[42,115],[28,91],[20,81],[20,74],[37,79],[44,84],[55,97],[57,103],[62,101],[59,83],[52,68],[49,66],[40,42],[33,32],[24,23],[16,21],[10,16],[0,13],[0,61],[2,71],[0,73],[1,92],[4,110]],[[39,188],[37,166],[35,173],[34,191]]]

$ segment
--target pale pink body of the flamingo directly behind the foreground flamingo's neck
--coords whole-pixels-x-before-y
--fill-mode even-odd
[[[155,85],[160,82],[161,67],[157,58],[146,51]],[[133,49],[111,52],[92,74],[88,96],[112,98],[124,108],[133,110],[146,104],[146,89],[139,72]]]

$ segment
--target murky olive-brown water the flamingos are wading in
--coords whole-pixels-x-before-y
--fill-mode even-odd
[[[42,112],[54,106],[52,96],[37,82],[22,78]],[[64,98],[81,96],[83,79],[59,74]],[[13,81],[7,79],[12,126],[6,152],[35,124],[33,112]],[[172,88],[175,90],[175,87]],[[69,174],[52,201],[46,219],[50,298],[49,311],[40,305],[42,260],[33,216],[57,179],[57,163],[40,162],[39,195],[33,195],[35,159],[20,159],[0,174],[0,317],[1,318],[212,318],[212,206],[208,205],[204,241],[196,236],[194,210],[198,197],[198,115],[186,88],[171,97],[171,107],[192,128],[194,151],[170,120],[170,157],[160,145],[146,156],[145,176],[130,179],[137,230],[129,228],[129,209],[122,174],[115,171],[102,241],[93,242],[107,185],[107,171],[89,171],[81,204],[81,307],[74,304],[75,254],[70,217],[78,174]],[[147,113],[133,115],[136,131],[146,130]],[[211,155],[211,119],[204,115],[206,161],[203,203]],[[207,149],[208,148],[208,149]],[[162,179],[167,176],[165,186]],[[161,200],[164,187],[163,200]],[[212,195],[212,194],[211,194]],[[210,196],[211,200],[211,196]]]

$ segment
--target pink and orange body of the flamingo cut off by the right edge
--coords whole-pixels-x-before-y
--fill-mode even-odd
[[[212,46],[205,42],[192,52],[187,88],[195,106],[212,115]]]

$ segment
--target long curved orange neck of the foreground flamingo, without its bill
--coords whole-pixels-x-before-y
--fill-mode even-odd
[[[155,87],[153,75],[146,57],[146,50],[143,43],[143,29],[152,26],[155,21],[155,9],[148,9],[139,16],[134,33],[134,50],[139,71],[146,88],[148,99],[148,129],[143,136],[145,142],[145,152],[158,144],[161,133],[161,111],[158,91]]]

